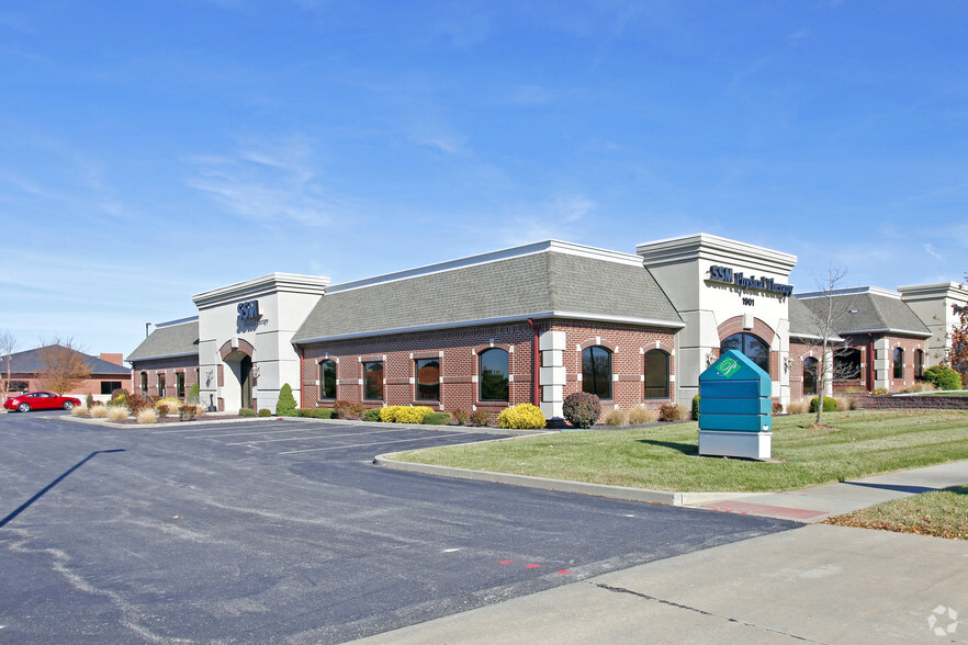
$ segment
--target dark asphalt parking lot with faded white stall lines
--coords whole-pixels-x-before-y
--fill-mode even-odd
[[[371,463],[489,438],[2,415],[0,643],[338,643],[798,525]]]

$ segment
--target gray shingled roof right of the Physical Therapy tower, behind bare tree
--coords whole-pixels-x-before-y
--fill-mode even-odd
[[[800,297],[804,306],[818,314],[826,307],[826,298],[823,296]],[[857,293],[835,294],[832,297],[834,312],[837,313],[837,333],[880,331],[925,338],[931,336],[921,318],[900,298],[859,290]],[[790,327],[792,328],[792,319]]]

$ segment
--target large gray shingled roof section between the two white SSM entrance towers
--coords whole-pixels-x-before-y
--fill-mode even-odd
[[[293,342],[552,313],[682,327],[644,267],[544,251],[346,291],[336,285]]]

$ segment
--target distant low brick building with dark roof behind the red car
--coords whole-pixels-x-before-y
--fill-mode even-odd
[[[7,378],[7,365],[10,363],[10,392],[33,392],[44,389],[41,377],[46,366],[41,359],[41,353],[50,347],[37,348],[25,352],[16,352],[10,357],[0,357],[0,380]],[[119,388],[131,389],[131,370],[124,366],[124,355],[120,353],[102,353],[92,357],[82,352],[79,354],[85,364],[91,371],[89,378],[81,382],[77,387],[64,394],[75,396],[110,395]]]

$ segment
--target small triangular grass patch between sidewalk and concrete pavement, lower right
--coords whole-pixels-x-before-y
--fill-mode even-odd
[[[968,484],[886,501],[824,522],[968,540]]]

